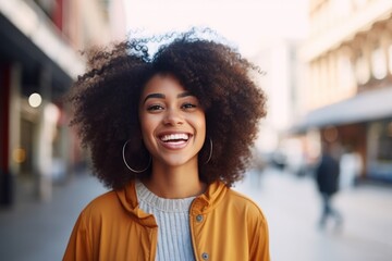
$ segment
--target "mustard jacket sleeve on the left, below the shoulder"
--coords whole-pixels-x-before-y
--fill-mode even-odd
[[[82,212],[72,231],[63,261],[93,260],[91,239],[86,223],[86,215]]]

